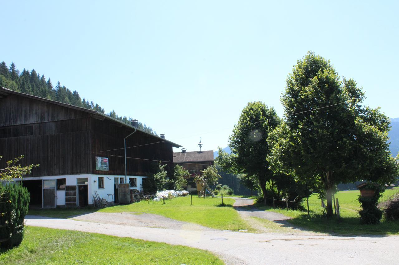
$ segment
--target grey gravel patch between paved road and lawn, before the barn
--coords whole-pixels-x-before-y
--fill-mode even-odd
[[[166,228],[177,230],[213,230],[211,228],[200,226],[167,218],[158,214],[134,213],[134,212],[92,212],[71,217],[74,220],[97,222],[103,224],[119,224],[124,226]]]

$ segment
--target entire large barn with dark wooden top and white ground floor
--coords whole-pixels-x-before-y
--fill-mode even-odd
[[[172,147],[181,146],[103,113],[0,88],[0,168],[20,155],[25,165],[40,164],[15,179],[31,205],[84,207],[95,192],[118,202],[119,184],[142,190],[155,161],[173,170]]]

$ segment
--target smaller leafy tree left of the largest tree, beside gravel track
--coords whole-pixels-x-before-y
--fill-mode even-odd
[[[269,154],[267,137],[280,124],[273,107],[260,101],[250,102],[241,112],[229,137],[231,154],[219,148],[217,163],[223,170],[256,177],[266,204],[266,184],[273,178],[266,160]]]

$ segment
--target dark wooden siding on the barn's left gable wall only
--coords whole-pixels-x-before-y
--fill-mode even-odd
[[[91,118],[89,113],[77,112],[18,95],[2,99],[0,168],[24,155],[21,164],[40,164],[32,177],[90,173]]]

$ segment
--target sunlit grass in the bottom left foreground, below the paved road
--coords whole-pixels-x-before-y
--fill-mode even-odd
[[[1,264],[224,264],[200,249],[132,238],[28,226],[19,247],[0,250]]]

